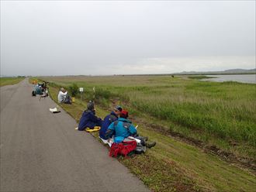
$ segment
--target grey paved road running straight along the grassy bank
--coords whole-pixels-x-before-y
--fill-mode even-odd
[[[148,191],[50,98],[24,80],[0,88],[1,191]]]

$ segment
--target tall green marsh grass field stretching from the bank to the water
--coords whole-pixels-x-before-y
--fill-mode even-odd
[[[237,156],[256,158],[256,85],[204,82],[168,76],[47,77],[85,88],[85,98],[108,108],[119,101],[131,115],[154,118],[172,132],[199,139]],[[230,146],[230,143],[236,143]],[[246,149],[246,150],[244,150]]]

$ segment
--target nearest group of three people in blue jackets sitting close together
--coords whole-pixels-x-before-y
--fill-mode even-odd
[[[78,130],[94,129],[95,126],[101,127],[99,129],[99,137],[102,140],[113,139],[113,142],[120,143],[127,138],[133,138],[139,140],[145,148],[151,148],[156,145],[156,142],[147,142],[147,137],[138,135],[137,127],[128,119],[128,111],[119,105],[102,120],[95,115],[94,103],[89,101],[87,110],[81,115]]]

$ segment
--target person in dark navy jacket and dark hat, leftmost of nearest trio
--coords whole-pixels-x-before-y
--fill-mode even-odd
[[[94,129],[95,126],[102,126],[102,119],[95,115],[94,103],[89,101],[87,110],[81,115],[78,131],[84,131],[86,128]]]

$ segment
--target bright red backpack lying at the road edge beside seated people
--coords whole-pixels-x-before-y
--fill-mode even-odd
[[[109,156],[127,156],[128,153],[132,152],[137,146],[136,141],[130,142],[114,142],[109,150]]]

